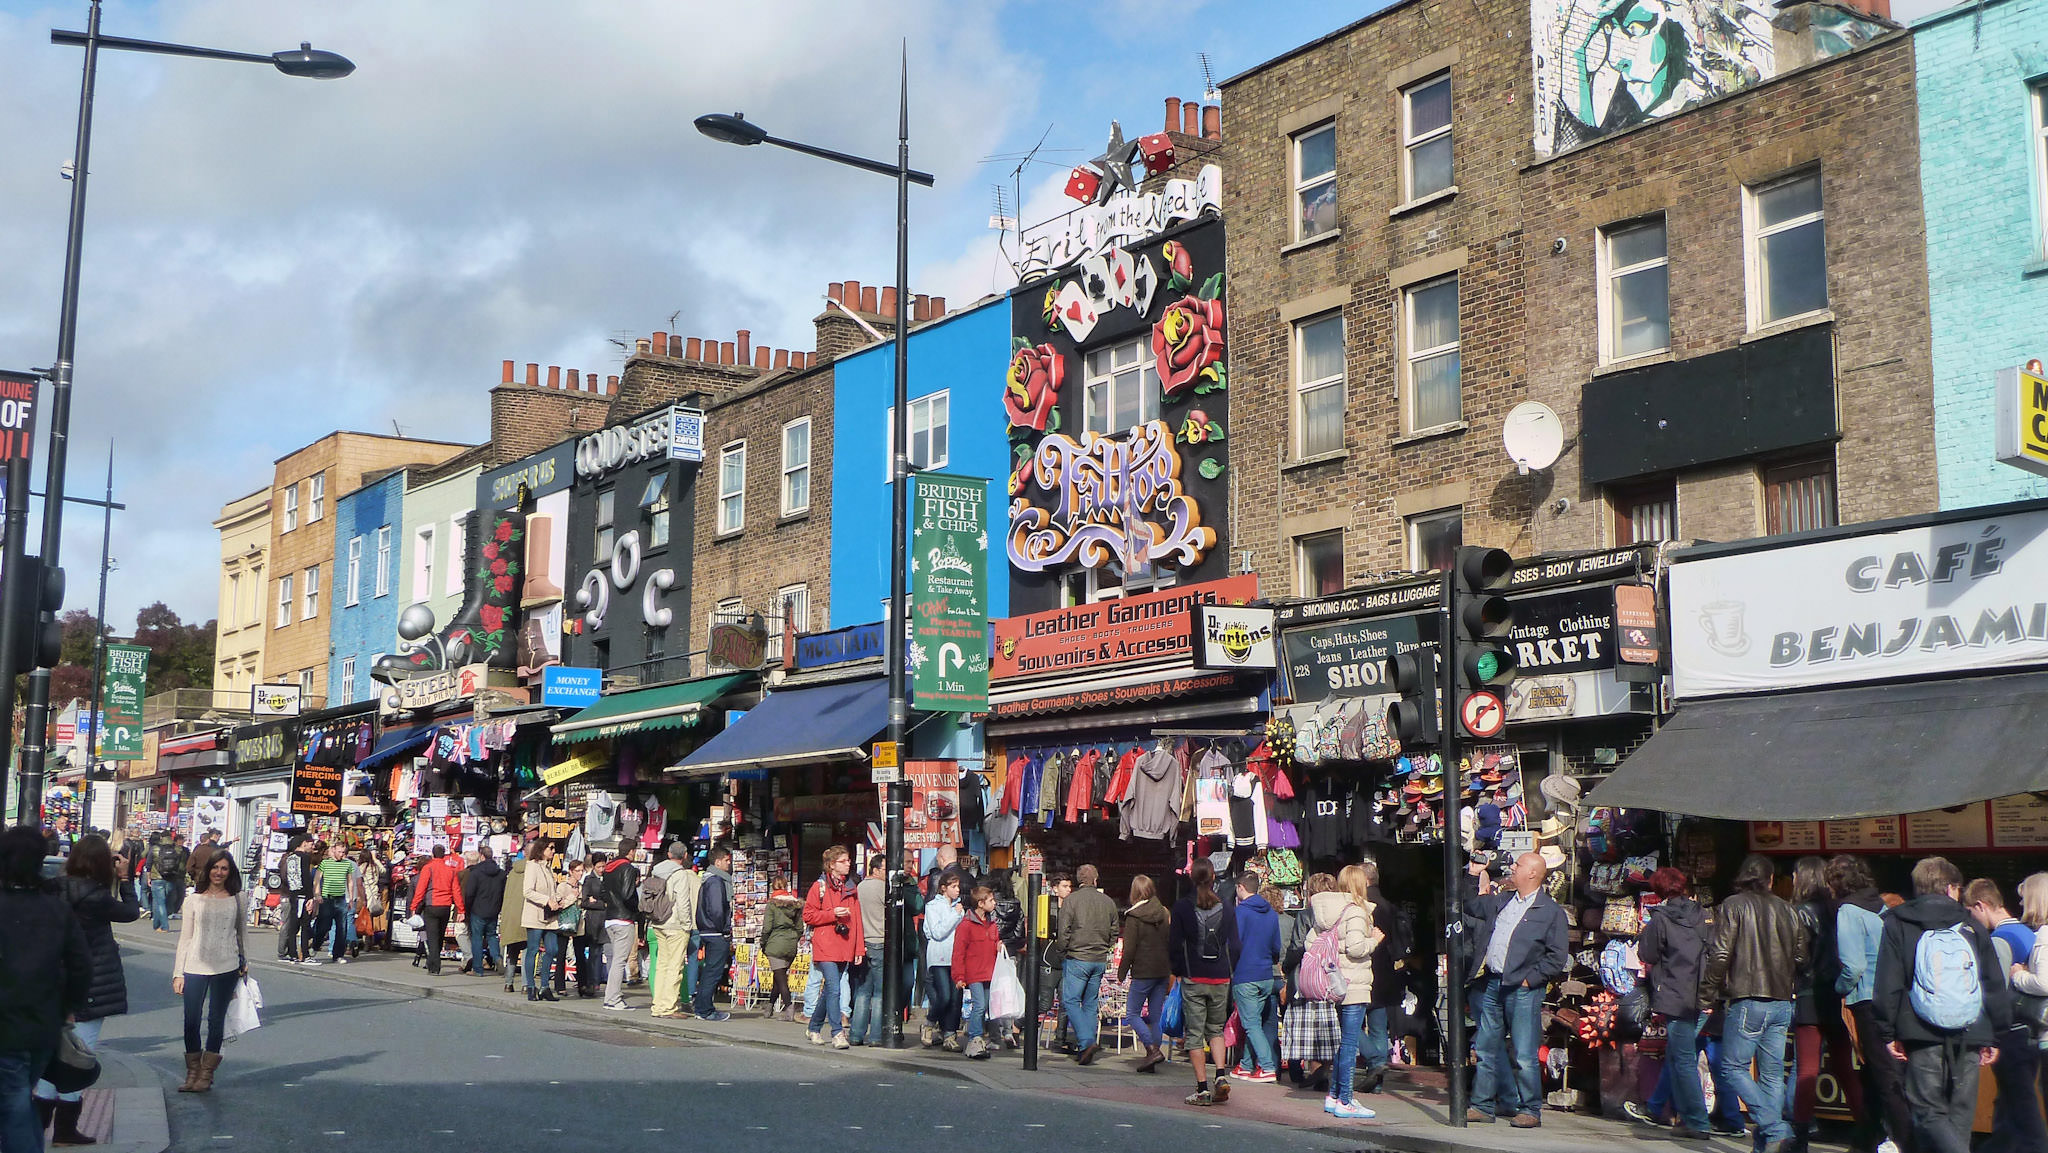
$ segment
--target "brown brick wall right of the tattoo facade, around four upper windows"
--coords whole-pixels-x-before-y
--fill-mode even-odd
[[[1401,88],[1448,72],[1456,193],[1405,205]],[[1292,541],[1341,528],[1346,584],[1409,567],[1403,516],[1462,506],[1464,541],[1528,551],[1534,483],[1499,446],[1526,393],[1516,170],[1528,160],[1528,14],[1513,4],[1386,10],[1225,84],[1219,162],[1231,268],[1235,549],[1294,592]],[[1331,240],[1292,246],[1288,133],[1335,119]],[[1456,270],[1462,422],[1417,436],[1397,387],[1403,283]],[[1298,463],[1292,322],[1341,311],[1343,453]]]

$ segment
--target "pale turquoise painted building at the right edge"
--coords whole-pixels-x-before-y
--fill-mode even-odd
[[[2048,0],[1913,25],[1942,508],[2048,496],[1995,457],[2001,369],[2048,360]]]

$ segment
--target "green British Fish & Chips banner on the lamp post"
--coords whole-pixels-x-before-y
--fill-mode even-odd
[[[989,707],[989,481],[924,473],[911,494],[911,696],[930,713]]]

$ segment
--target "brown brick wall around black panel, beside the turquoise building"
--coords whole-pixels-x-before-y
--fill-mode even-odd
[[[1806,166],[1821,170],[1827,229],[1839,518],[1935,508],[1915,125],[1913,41],[1894,35],[1528,172],[1528,395],[1565,422],[1546,498],[1571,500],[1569,512],[1536,514],[1538,549],[1614,543],[1606,494],[1581,483],[1573,444],[1583,389],[1599,373],[1597,229],[1663,213],[1669,358],[1735,348],[1749,336],[1743,186]],[[1681,539],[1763,535],[1755,463],[1681,471],[1675,481]]]

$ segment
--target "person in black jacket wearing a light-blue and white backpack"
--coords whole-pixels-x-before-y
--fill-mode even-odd
[[[1976,1071],[1999,1059],[1997,1036],[2013,1022],[2011,991],[1993,950],[1991,934],[1958,899],[1962,870],[1939,856],[1913,866],[1915,897],[1884,917],[1878,942],[1878,987],[1872,1010],[1878,1036],[1892,1057],[1907,1063],[1907,1104],[1913,1108],[1913,1139],[1921,1153],[1970,1153],[1970,1122],[1976,1116]],[[1927,942],[1921,938],[1944,934]],[[1956,940],[1958,934],[1960,940]],[[1954,948],[1948,948],[1954,944]],[[1921,971],[1921,960],[1956,965],[1958,952],[1974,956],[1976,989],[1966,997],[1976,1006],[1970,1024],[1944,1026],[1921,1010],[1946,1008],[1950,985]],[[1948,973],[1966,975],[1966,969]],[[1942,1003],[1937,1003],[1942,1001]]]

